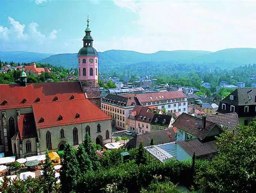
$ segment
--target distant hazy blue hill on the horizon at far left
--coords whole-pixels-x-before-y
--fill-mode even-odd
[[[0,51],[0,60],[3,62],[35,62],[42,60],[45,57],[54,55],[52,53],[37,53],[37,52],[28,52],[28,51]]]

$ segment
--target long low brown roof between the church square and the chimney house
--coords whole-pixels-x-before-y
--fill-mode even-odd
[[[175,142],[176,134],[172,128],[155,131],[153,133],[140,133],[136,134],[132,140],[127,142],[126,148],[136,148],[142,143],[144,147],[150,146],[151,140],[153,139],[154,145],[165,144]]]

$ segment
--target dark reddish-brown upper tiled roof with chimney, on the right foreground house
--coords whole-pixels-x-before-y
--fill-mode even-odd
[[[206,120],[205,128],[202,129],[202,119],[193,117],[187,113],[182,113],[172,125],[173,127],[186,131],[197,138],[204,139],[213,127],[215,127],[216,123]]]

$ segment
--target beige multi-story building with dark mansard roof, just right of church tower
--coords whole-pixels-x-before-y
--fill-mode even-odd
[[[120,129],[128,129],[127,118],[135,107],[135,94],[108,94],[101,100],[101,110],[112,117],[112,124]]]

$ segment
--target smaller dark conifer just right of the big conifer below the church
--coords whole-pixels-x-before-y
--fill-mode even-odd
[[[79,144],[76,151],[76,158],[79,164],[81,174],[85,174],[88,170],[92,170],[92,162],[88,154],[85,152],[83,144]]]

